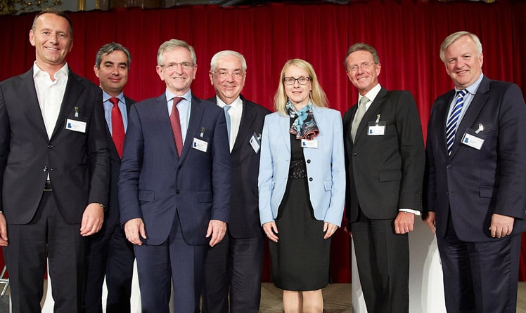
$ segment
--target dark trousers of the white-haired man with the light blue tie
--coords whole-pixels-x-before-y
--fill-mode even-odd
[[[203,279],[203,313],[259,312],[264,254],[263,234],[224,239],[209,248]]]

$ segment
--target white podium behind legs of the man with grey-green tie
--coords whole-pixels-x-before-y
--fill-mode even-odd
[[[409,233],[409,312],[445,313],[442,266],[437,239],[429,227],[415,218],[415,229]],[[356,266],[352,242],[352,312],[367,312]]]

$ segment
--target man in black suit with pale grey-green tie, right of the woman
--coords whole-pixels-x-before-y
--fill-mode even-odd
[[[359,105],[343,117],[347,231],[354,239],[369,313],[409,311],[409,239],[420,215],[424,173],[422,128],[409,91],[378,84],[380,59],[368,44],[345,58]]]

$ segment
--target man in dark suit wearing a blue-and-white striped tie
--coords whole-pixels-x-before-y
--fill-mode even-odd
[[[435,100],[426,145],[425,222],[437,234],[448,312],[515,312],[525,231],[526,105],[482,74],[482,44],[440,46],[455,88]]]

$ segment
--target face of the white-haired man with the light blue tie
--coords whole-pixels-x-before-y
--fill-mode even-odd
[[[245,72],[241,60],[235,55],[224,55],[217,60],[216,68],[209,73],[210,83],[216,94],[227,105],[238,98],[245,86]]]

